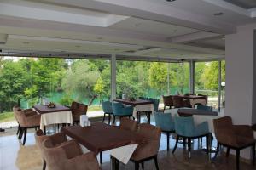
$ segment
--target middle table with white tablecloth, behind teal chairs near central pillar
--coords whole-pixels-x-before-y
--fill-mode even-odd
[[[132,116],[137,117],[137,120],[140,122],[141,112],[147,112],[148,114],[148,123],[150,124],[150,114],[154,113],[154,103],[149,100],[143,99],[113,99],[115,102],[122,103],[124,105],[133,106]]]

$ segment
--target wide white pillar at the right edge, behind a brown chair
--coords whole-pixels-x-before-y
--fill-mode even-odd
[[[225,116],[235,124],[256,123],[256,24],[239,26],[225,37]],[[250,157],[249,150],[241,156]]]

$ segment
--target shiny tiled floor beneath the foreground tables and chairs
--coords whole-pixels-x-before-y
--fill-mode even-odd
[[[15,135],[16,128],[7,129],[0,133],[0,170],[39,170],[42,169],[41,156],[35,145],[34,131],[30,130],[27,135],[26,145],[23,146]],[[162,135],[159,153],[159,166],[162,170],[213,170],[213,169],[236,169],[235,159],[230,156],[218,156],[215,161],[208,161],[207,154],[198,149],[198,142],[195,140],[194,150],[191,158],[188,158],[187,150],[183,150],[183,144],[178,144],[175,154],[172,155],[174,139],[171,139],[171,150],[166,151],[166,135]],[[223,154],[224,155],[224,154]],[[109,154],[103,152],[102,170],[110,169]],[[127,165],[120,165],[120,169],[134,169],[132,162]],[[145,169],[155,169],[154,161],[145,163]],[[255,170],[256,167],[241,162],[241,169]]]

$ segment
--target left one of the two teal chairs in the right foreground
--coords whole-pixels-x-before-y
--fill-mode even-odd
[[[167,150],[169,151],[170,134],[175,133],[174,122],[169,113],[156,112],[154,113],[155,125],[160,127],[163,133],[167,136]]]

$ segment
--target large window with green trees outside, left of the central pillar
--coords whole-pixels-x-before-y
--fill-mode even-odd
[[[99,105],[110,98],[110,64],[103,59],[5,58],[1,59],[0,110],[12,111],[44,99],[61,105],[73,100]]]

